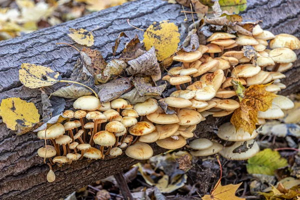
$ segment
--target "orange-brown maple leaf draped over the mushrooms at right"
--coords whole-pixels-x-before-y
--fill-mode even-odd
[[[255,123],[258,122],[258,111],[266,111],[271,107],[272,101],[277,95],[266,91],[265,86],[267,85],[251,85],[244,90],[243,97],[239,103],[240,107],[234,110],[230,119],[236,130],[242,128],[244,131],[252,134],[255,129]]]

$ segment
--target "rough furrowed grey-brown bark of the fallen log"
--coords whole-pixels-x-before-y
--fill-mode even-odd
[[[93,48],[100,49],[105,59],[112,57],[111,47],[121,31],[129,37],[135,33],[142,38],[142,31],[126,23],[146,28],[153,21],[169,19],[180,26],[184,15],[181,5],[169,4],[162,0],[136,0],[121,6],[108,8],[100,12],[68,21],[50,28],[35,31],[21,37],[0,42],[0,100],[16,96],[36,104],[40,110],[40,91],[21,86],[18,81],[18,69],[23,62],[50,66],[68,77],[78,57],[78,52],[71,47],[55,45],[56,42],[74,44],[66,35],[69,27],[83,27],[88,30],[99,26],[93,32]],[[262,27],[274,34],[285,32],[300,36],[300,0],[248,0],[248,7],[243,17],[263,20]],[[119,51],[123,48],[120,43]],[[296,51],[299,55],[300,51]],[[287,78],[282,82],[287,85],[281,93],[289,94],[299,90],[300,61],[286,71]],[[201,122],[196,134],[214,132],[221,120],[210,117]],[[2,121],[0,121],[2,122]],[[13,131],[0,124],[0,199],[58,199],[88,183],[123,170],[136,162],[124,155],[114,159],[99,161],[77,161],[60,168],[53,167],[56,180],[46,182],[47,165],[36,156],[36,151],[43,145],[34,134],[15,136]],[[152,145],[154,153],[163,149]]]

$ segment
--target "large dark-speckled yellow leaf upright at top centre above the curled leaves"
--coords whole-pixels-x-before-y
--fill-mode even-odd
[[[159,61],[172,55],[177,50],[180,41],[178,27],[166,20],[152,23],[144,32],[143,37],[146,50],[154,46]]]

